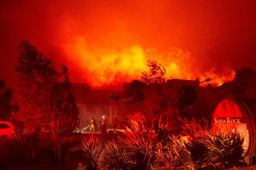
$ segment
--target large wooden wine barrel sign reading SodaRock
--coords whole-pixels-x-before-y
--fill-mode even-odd
[[[244,137],[243,156],[256,156],[256,99],[224,98],[213,112],[211,125],[236,130]]]

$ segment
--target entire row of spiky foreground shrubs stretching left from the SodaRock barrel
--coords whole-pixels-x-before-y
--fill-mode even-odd
[[[205,120],[183,120],[183,135],[167,125],[152,122],[139,113],[129,118],[130,128],[118,141],[105,144],[95,136],[82,142],[82,150],[94,169],[197,169],[203,165],[242,158],[243,138],[235,131],[211,129]]]

